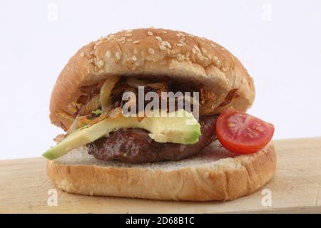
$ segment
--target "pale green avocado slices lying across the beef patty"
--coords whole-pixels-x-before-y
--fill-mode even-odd
[[[195,144],[200,137],[200,124],[191,113],[177,110],[174,113],[157,117],[146,117],[139,122],[136,117],[106,118],[94,125],[76,130],[44,152],[46,159],[54,160],[89,142],[98,140],[119,128],[142,128],[150,132],[156,142]]]

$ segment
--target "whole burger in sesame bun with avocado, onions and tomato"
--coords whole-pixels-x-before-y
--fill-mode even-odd
[[[163,200],[230,200],[274,175],[272,124],[245,113],[255,88],[207,38],[138,28],[83,46],[61,71],[44,152],[61,190]]]

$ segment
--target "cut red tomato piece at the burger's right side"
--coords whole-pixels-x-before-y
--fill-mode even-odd
[[[274,126],[259,118],[228,108],[220,113],[216,134],[225,149],[238,154],[251,154],[270,142]]]

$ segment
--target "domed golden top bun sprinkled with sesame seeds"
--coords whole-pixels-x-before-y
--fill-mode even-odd
[[[70,113],[69,104],[83,94],[79,88],[113,75],[168,76],[201,83],[223,96],[237,89],[238,98],[223,108],[233,106],[245,111],[255,97],[248,71],[218,43],[181,31],[138,28],[102,37],[71,57],[51,94],[51,122],[63,127],[57,112]]]

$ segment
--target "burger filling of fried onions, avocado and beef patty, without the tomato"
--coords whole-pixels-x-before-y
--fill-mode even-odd
[[[170,110],[168,105],[165,112],[183,112],[184,118],[154,118],[144,113],[141,115],[138,99],[123,99],[124,93],[128,91],[139,97],[140,88],[143,88],[145,94],[149,91],[156,92],[159,104],[168,102],[168,98],[163,98],[163,92],[182,92],[183,96],[185,92],[190,92],[188,94],[191,100],[193,92],[198,92],[199,120],[191,114],[193,108],[190,112],[180,110],[178,100],[175,100],[174,110]],[[58,112],[63,120],[61,127],[68,132],[56,147],[44,153],[49,159],[84,145],[88,148],[88,153],[99,160],[131,163],[181,160],[197,154],[216,139],[218,108],[238,97],[237,90],[230,90],[228,95],[221,96],[204,85],[182,83],[167,77],[147,80],[114,76],[79,89],[83,95],[76,103],[69,105],[68,110]],[[133,102],[136,105],[129,107],[131,113],[137,114],[136,117],[125,117],[124,106]],[[148,100],[144,100],[143,107],[146,108],[148,103]],[[186,120],[191,121],[189,125],[185,124]]]

